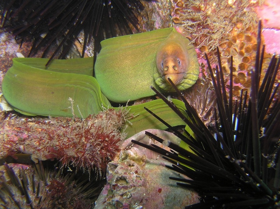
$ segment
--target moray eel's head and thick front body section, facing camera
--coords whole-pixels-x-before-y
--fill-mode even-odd
[[[127,102],[174,91],[169,77],[180,90],[198,79],[199,64],[194,46],[174,28],[126,35],[101,42],[95,77],[111,101]]]

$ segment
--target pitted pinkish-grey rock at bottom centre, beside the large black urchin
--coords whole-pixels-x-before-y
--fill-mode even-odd
[[[96,201],[101,208],[184,208],[199,202],[198,194],[169,179],[183,177],[163,160],[149,160],[136,147],[121,151],[107,166],[107,184]],[[187,177],[183,177],[187,178]]]

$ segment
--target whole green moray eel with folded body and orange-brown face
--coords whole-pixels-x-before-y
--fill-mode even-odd
[[[167,77],[181,90],[198,78],[193,45],[173,28],[107,39],[101,46],[96,78],[92,76],[93,58],[53,60],[48,67],[45,58],[14,58],[2,83],[5,99],[16,111],[29,116],[72,117],[74,113],[86,117],[113,108],[109,100],[127,102],[152,96],[155,93],[151,85],[161,92],[172,91]],[[184,103],[172,101],[186,115]],[[165,102],[157,99],[128,107],[136,115],[127,123],[128,137],[147,128],[166,129],[143,107],[172,126],[185,125]]]

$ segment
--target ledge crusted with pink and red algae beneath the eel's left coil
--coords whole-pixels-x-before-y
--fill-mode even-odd
[[[105,171],[125,139],[121,127],[129,117],[128,110],[120,108],[84,120],[4,119],[0,121],[0,157],[23,152],[31,154],[34,161],[58,159],[63,166]]]

